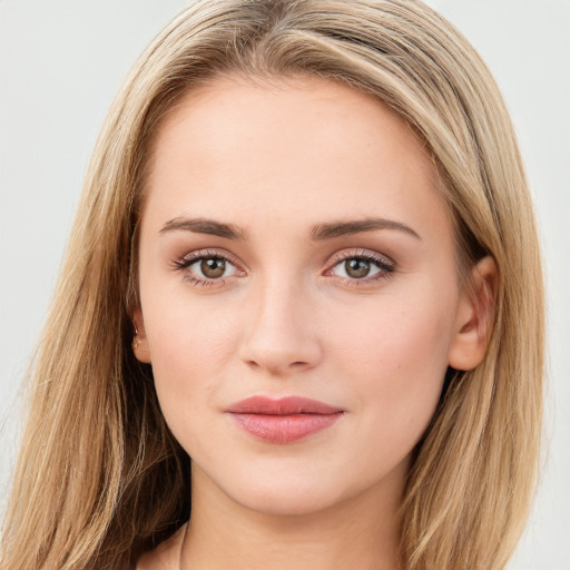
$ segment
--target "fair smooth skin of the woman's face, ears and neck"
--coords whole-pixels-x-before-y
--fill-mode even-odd
[[[484,355],[495,279],[485,258],[474,294],[461,288],[436,185],[402,119],[331,81],[216,79],[171,109],[149,164],[135,352],[193,459],[193,514],[139,570],[399,568],[410,454],[448,366]],[[410,230],[314,239],[366,218]],[[363,254],[381,264],[354,277],[345,262]],[[225,273],[206,283],[190,255],[226,257]],[[224,412],[258,394],[343,415],[267,443]]]

